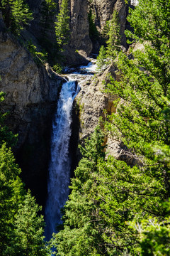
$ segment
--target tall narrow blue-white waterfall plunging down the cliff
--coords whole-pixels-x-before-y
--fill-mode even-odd
[[[72,104],[77,95],[74,81],[62,85],[57,104],[57,113],[52,124],[51,160],[45,206],[45,239],[50,240],[56,224],[62,223],[60,210],[68,199],[71,159],[69,139],[71,137]]]

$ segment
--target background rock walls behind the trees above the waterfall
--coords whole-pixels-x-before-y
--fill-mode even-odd
[[[29,31],[33,33],[35,38],[41,38],[42,25],[41,21],[41,6],[42,0],[27,0],[30,8],[34,12],[34,21],[31,23]],[[132,0],[131,4],[134,4],[135,0]],[[136,1],[135,1],[136,3]],[[92,48],[94,52],[98,52],[100,48],[99,43],[94,42],[92,46],[91,39],[89,38],[89,21],[88,21],[88,9],[92,6],[93,12],[96,16],[96,27],[101,33],[106,25],[106,21],[110,20],[114,10],[118,11],[120,20],[120,35],[121,43],[126,47],[125,40],[125,18],[127,15],[127,8],[125,0],[93,0],[91,4],[87,3],[87,0],[70,0],[70,41],[65,47],[64,55],[65,63],[67,65],[80,65],[86,63],[86,57],[90,55]],[[48,32],[48,41],[55,43],[55,24],[56,15],[59,11],[59,6],[56,9],[56,14],[52,18],[52,26]]]

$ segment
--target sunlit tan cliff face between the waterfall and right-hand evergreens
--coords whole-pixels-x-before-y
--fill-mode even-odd
[[[142,47],[137,46],[138,47]],[[134,49],[136,50],[136,48]],[[120,76],[115,72],[115,67],[111,65],[103,74],[96,75],[92,78],[91,82],[85,82],[81,85],[81,91],[75,99],[74,109],[79,107],[79,144],[84,144],[84,139],[89,138],[90,134],[94,132],[94,129],[98,124],[103,127],[100,122],[100,117],[103,121],[108,114],[115,113],[117,107],[114,105],[114,101],[118,100],[118,96],[106,94],[105,84],[110,82],[110,76],[115,80],[119,80]],[[123,103],[123,100],[120,101]],[[78,107],[77,107],[78,106]],[[78,122],[77,122],[78,123]],[[75,129],[75,128],[74,128]],[[77,132],[77,129],[75,129]],[[75,142],[74,142],[75,144]],[[135,164],[141,165],[140,161],[134,158],[130,153],[127,146],[118,141],[111,132],[105,134],[106,151],[109,155],[114,156],[116,159],[123,160],[127,164],[134,166]],[[77,150],[77,158],[81,158],[79,150]]]

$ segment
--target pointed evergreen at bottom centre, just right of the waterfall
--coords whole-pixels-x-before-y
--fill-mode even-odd
[[[85,147],[81,147],[84,158],[75,171],[72,193],[64,207],[64,230],[54,235],[51,241],[57,248],[57,255],[98,255],[97,251],[103,250],[102,247],[96,250],[98,241],[102,243],[103,239],[96,229],[97,204],[91,198],[91,188],[98,172],[97,163],[105,158],[102,144],[103,134],[97,128],[91,140],[86,140]]]

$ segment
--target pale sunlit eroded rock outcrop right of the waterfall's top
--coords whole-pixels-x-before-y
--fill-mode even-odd
[[[112,65],[102,75],[97,75],[92,78],[91,82],[81,85],[81,91],[77,95],[75,103],[75,107],[77,105],[79,106],[80,144],[84,144],[84,139],[88,138],[94,132],[99,118],[106,117],[105,110],[108,114],[116,111],[113,101],[118,99],[118,97],[104,92],[105,82],[109,81],[110,75],[118,79],[115,68]],[[106,137],[106,144],[108,145],[107,149],[109,153],[118,158],[120,154],[120,143],[108,135]]]

